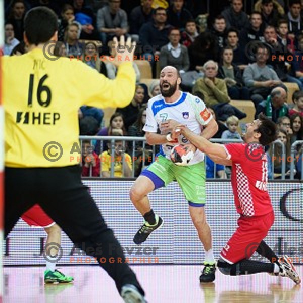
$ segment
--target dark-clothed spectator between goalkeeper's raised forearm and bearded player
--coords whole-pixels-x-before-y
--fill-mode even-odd
[[[117,109],[117,112],[121,113],[124,117],[124,126],[126,129],[128,129],[137,120],[143,99],[144,88],[141,85],[137,85],[134,98],[130,105],[122,109]]]

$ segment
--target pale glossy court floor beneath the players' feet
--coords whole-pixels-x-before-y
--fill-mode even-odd
[[[292,303],[303,302],[303,287],[289,278],[266,273],[229,277],[216,273],[216,281],[200,285],[197,265],[132,266],[148,303]],[[296,266],[303,276],[303,266]],[[5,303],[120,303],[115,284],[98,266],[68,266],[73,284],[44,285],[42,267],[5,267]],[[59,268],[60,270],[60,268]]]

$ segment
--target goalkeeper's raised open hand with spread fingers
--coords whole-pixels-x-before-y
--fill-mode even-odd
[[[125,42],[124,35],[120,37],[119,42],[117,37],[114,37],[113,42],[112,55],[114,56],[114,60],[112,63],[118,66],[123,62],[132,62],[134,60],[136,42],[132,42],[130,37]]]

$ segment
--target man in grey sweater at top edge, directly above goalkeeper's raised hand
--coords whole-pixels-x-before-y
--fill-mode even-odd
[[[109,0],[109,6],[97,12],[97,29],[103,45],[115,36],[120,37],[128,31],[127,14],[120,9],[120,0]]]

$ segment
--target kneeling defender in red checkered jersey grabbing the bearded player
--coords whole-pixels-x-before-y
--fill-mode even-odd
[[[278,258],[263,240],[274,223],[267,191],[264,146],[275,140],[276,125],[264,115],[259,115],[258,120],[246,125],[245,143],[227,145],[211,143],[183,125],[174,129],[172,138],[180,134],[214,162],[232,166],[231,182],[240,218],[237,230],[221,251],[217,263],[219,270],[231,276],[268,272],[287,276],[299,284],[300,277],[290,259],[287,256]],[[249,260],[255,251],[271,263]]]

